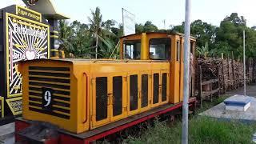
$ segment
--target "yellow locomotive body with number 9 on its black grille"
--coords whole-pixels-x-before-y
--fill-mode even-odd
[[[21,62],[22,118],[80,134],[182,102],[183,34],[132,34],[120,42],[120,60]],[[194,54],[195,38],[190,45]]]

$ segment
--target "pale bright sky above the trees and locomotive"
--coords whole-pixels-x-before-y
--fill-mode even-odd
[[[39,0],[40,1],[40,0]],[[180,25],[185,19],[185,0],[52,0],[58,13],[70,21],[87,23],[90,11],[98,6],[103,21],[114,19],[122,23],[122,8],[135,14],[136,23],[151,21],[159,29]],[[0,0],[0,8],[11,4],[22,5],[22,0]],[[191,0],[191,22],[202,19],[214,26],[236,12],[244,16],[247,26],[256,26],[255,0]],[[163,21],[166,21],[164,25]]]

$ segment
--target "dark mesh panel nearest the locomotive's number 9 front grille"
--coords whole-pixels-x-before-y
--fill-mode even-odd
[[[107,78],[96,78],[96,121],[107,118]]]

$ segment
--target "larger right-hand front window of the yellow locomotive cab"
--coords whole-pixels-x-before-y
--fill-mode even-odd
[[[170,38],[150,39],[150,59],[170,59]]]

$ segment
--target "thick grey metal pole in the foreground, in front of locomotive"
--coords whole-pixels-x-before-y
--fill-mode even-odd
[[[190,85],[190,0],[186,0],[185,11],[185,50],[184,50],[184,89],[182,105],[182,144],[188,144],[188,111]]]

